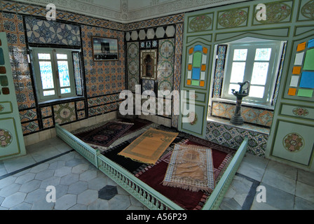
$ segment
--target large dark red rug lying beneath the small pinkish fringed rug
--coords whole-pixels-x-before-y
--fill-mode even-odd
[[[179,134],[180,133],[181,132],[179,132]],[[205,139],[193,137],[191,135],[182,135],[184,135],[184,139],[182,139],[179,144],[205,146],[212,149],[214,179],[215,186],[217,186],[219,179],[221,179],[221,176],[224,174],[224,170],[231,162],[233,155],[235,154],[235,150],[226,146],[214,144]],[[140,172],[137,172],[135,176],[137,176],[138,179],[146,183],[151,188],[157,190],[158,193],[161,193],[165,197],[168,197],[170,200],[172,200],[172,202],[175,202],[183,209],[202,209],[203,205],[207,201],[207,197],[210,196],[210,193],[203,190],[193,192],[191,190],[184,190],[182,188],[163,186],[162,182],[167,172],[171,155],[172,151],[170,151],[169,153],[165,153],[165,155],[163,155],[161,159],[156,162],[156,165],[145,167]]]

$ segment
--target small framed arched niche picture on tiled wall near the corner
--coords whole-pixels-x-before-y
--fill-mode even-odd
[[[141,50],[141,78],[157,79],[157,49]]]

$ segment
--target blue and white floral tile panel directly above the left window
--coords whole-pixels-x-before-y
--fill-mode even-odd
[[[81,45],[80,27],[62,22],[25,17],[29,43]]]

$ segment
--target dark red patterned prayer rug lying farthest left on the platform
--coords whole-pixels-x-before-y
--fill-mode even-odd
[[[81,137],[81,139],[87,144],[108,147],[116,141],[116,139],[121,137],[122,134],[128,131],[132,125],[132,123],[109,121],[108,123],[97,127],[92,132],[89,132],[84,137]]]

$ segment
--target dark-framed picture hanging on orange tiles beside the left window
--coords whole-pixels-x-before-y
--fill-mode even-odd
[[[95,62],[118,60],[118,39],[93,36],[92,47]]]

